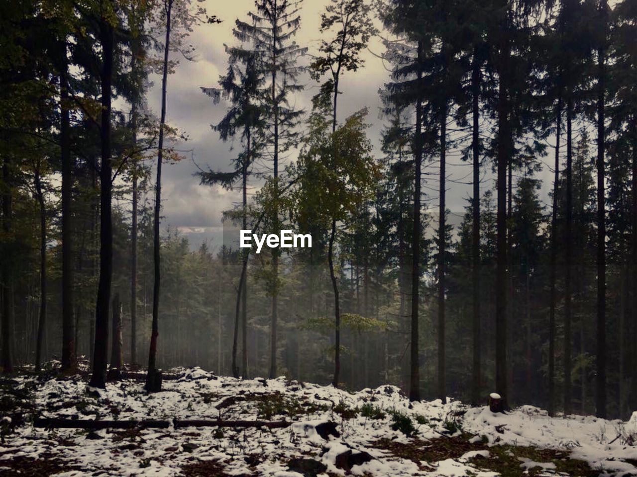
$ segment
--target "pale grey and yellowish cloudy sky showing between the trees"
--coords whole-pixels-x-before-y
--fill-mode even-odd
[[[320,13],[328,2],[329,0],[305,0],[301,4],[301,29],[296,41],[299,45],[308,46],[310,53],[317,49],[320,39]],[[220,141],[218,134],[210,127],[222,118],[227,104],[223,101],[213,104],[199,87],[217,86],[218,78],[227,66],[224,43],[237,44],[231,33],[234,20],[245,20],[247,12],[254,10],[254,1],[207,0],[203,4],[209,14],[217,15],[223,22],[218,25],[205,24],[196,27],[189,43],[193,43],[197,48],[197,60],[189,62],[182,59],[175,74],[169,76],[168,122],[183,130],[190,139],[178,145],[179,148],[189,151],[184,153],[186,159],[174,165],[166,165],[163,169],[162,214],[165,217],[164,225],[179,228],[189,237],[193,246],[196,247],[207,240],[211,246],[216,247],[221,238],[222,211],[231,209],[240,200],[240,191],[201,186],[193,176],[197,171],[197,165],[203,169],[229,169],[234,154],[233,151],[229,151],[232,144]],[[343,75],[340,84],[343,94],[339,99],[338,111],[338,117],[342,120],[362,107],[369,107],[369,137],[379,156],[378,137],[382,129],[382,120],[378,119],[378,88],[387,81],[389,74],[383,60],[377,56],[382,52],[380,38],[374,38],[369,44],[368,51],[363,54],[366,60],[364,67],[354,73]],[[301,62],[307,64],[309,60],[309,57],[304,57]],[[151,79],[154,86],[148,92],[148,104],[158,113],[161,78],[153,76]],[[305,85],[305,90],[298,95],[296,104],[308,110],[310,98],[316,93],[317,85],[308,77],[301,78],[301,83]],[[464,183],[471,180],[470,175],[467,177],[470,170],[461,163],[458,151],[448,153],[447,169],[447,206],[452,212],[462,213],[466,198],[469,197],[470,186]],[[431,163],[426,166],[424,172],[424,191],[429,194],[433,206],[438,198],[438,165]],[[546,170],[541,176],[548,179],[550,171]],[[483,187],[492,186],[490,174],[485,175],[484,181]]]

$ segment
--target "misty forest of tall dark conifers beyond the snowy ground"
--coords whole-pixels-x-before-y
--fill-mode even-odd
[[[320,4],[306,20],[296,0],[234,17],[213,1],[0,3],[3,375],[99,390],[132,373],[153,394],[199,366],[631,417],[637,2]],[[162,212],[162,165],[192,160],[167,104],[197,32],[224,62],[187,95],[231,160],[196,151],[181,180],[233,204],[199,244]],[[383,86],[350,111],[370,57]],[[239,230],[311,247],[256,254]]]

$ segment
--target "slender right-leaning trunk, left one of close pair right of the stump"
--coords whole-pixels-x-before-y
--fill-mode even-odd
[[[551,213],[550,310],[548,312],[548,415],[555,414],[555,308],[557,308],[557,195],[559,187],[559,148],[562,134],[562,93],[557,96],[555,114],[555,167],[553,179],[553,210]]]

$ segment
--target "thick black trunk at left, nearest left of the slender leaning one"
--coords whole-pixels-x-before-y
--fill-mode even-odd
[[[93,354],[93,374],[89,385],[106,387],[106,366],[108,366],[108,314],[111,300],[111,280],[113,279],[113,218],[111,200],[113,194],[111,163],[111,85],[113,81],[113,27],[109,20],[102,18],[100,25],[102,45],[102,121],[101,167],[100,167],[100,214],[99,214],[99,282],[95,310],[95,345]]]

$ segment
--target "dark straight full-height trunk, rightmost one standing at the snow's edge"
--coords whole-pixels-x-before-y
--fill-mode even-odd
[[[606,25],[608,21],[608,3],[601,0],[602,38],[598,48],[598,99],[597,99],[597,202],[598,202],[598,247],[597,247],[597,381],[596,415],[606,417],[606,210],[604,184],[604,148],[605,132],[605,88],[606,88]]]

